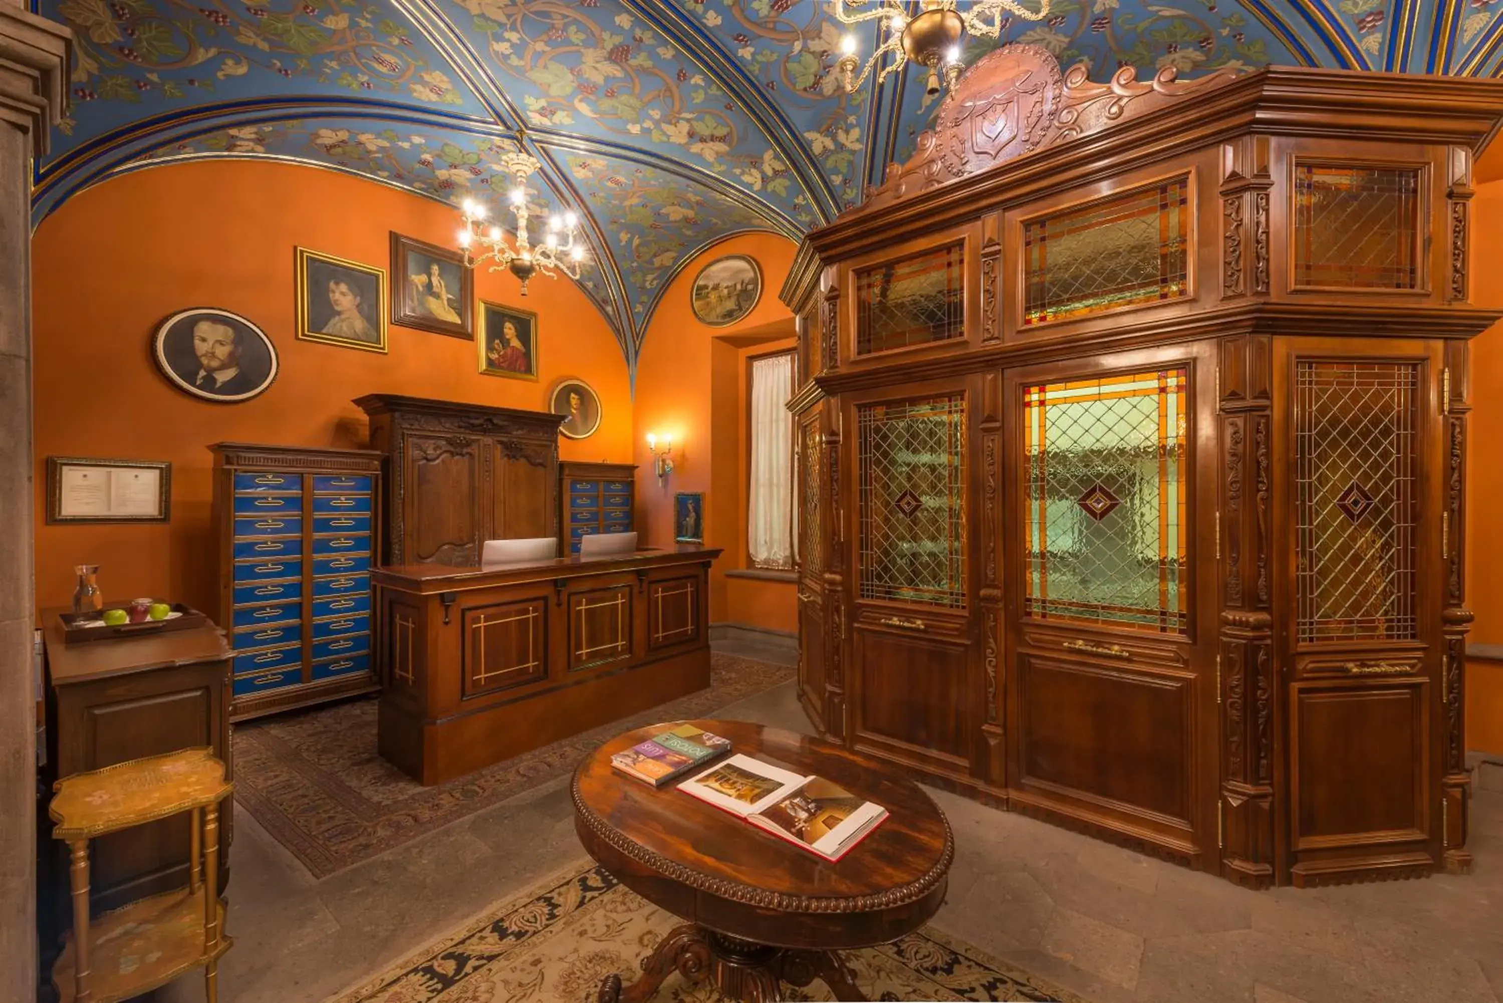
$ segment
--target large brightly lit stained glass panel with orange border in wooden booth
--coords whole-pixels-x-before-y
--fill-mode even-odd
[[[1024,389],[1024,614],[1184,633],[1187,371]]]

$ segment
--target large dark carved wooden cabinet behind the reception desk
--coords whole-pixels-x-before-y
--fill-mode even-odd
[[[397,394],[355,405],[386,454],[386,564],[479,564],[485,540],[558,535],[562,415]]]

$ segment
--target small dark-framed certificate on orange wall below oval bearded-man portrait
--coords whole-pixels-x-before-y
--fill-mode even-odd
[[[173,465],[47,457],[47,522],[167,522]]]

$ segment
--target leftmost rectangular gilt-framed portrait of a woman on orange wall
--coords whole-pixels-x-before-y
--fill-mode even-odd
[[[386,272],[298,248],[298,338],[386,350]]]

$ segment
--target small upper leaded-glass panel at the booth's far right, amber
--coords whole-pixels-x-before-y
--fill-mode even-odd
[[[1299,164],[1294,284],[1416,289],[1419,168]]]

